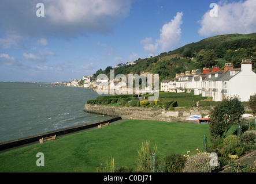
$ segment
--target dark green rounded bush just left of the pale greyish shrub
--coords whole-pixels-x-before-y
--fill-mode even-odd
[[[166,155],[164,158],[167,173],[181,173],[187,158],[180,154]]]

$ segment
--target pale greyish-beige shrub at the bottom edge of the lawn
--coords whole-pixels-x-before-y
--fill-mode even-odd
[[[185,162],[183,172],[185,173],[210,173],[216,167],[210,166],[210,154],[199,152],[194,156],[189,156]],[[219,165],[220,163],[218,163]]]

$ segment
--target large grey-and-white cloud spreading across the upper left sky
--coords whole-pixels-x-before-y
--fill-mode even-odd
[[[40,0],[44,4],[44,17],[37,17],[36,3],[38,0],[1,0],[1,29],[44,38],[107,33],[128,16],[131,7],[131,0]]]

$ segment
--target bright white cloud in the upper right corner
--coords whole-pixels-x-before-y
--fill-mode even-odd
[[[201,36],[215,36],[218,34],[256,32],[256,1],[218,3],[218,16],[211,17],[207,11],[199,21]]]

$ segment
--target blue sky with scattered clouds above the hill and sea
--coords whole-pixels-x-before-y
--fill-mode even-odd
[[[61,82],[256,32],[256,0],[1,0],[0,81]]]

